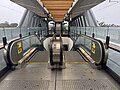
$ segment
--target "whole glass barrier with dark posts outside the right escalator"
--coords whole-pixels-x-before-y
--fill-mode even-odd
[[[120,27],[71,27],[70,36],[79,42],[79,35],[87,35],[106,43],[108,48],[108,59],[106,61],[106,68],[112,76],[120,82]],[[110,38],[110,41],[109,41]],[[79,39],[79,40],[78,40]],[[77,41],[78,40],[78,41]],[[89,40],[82,39],[86,49],[91,49]],[[89,51],[88,51],[89,53]]]

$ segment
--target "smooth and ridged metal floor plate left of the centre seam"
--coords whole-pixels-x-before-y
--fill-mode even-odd
[[[0,90],[54,90],[55,71],[47,65],[27,65],[10,72],[1,81]]]

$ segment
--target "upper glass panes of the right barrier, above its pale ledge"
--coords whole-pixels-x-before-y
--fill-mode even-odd
[[[71,32],[78,34],[86,34],[90,37],[99,38],[102,41],[106,40],[106,36],[110,36],[110,43],[115,43],[120,46],[120,27],[71,27]],[[72,36],[76,37],[76,34]]]

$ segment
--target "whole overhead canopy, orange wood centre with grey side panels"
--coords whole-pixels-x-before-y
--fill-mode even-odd
[[[75,18],[104,0],[11,0],[41,17],[61,22],[69,14]]]

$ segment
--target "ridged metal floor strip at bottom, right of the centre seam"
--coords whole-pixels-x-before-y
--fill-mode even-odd
[[[57,84],[57,90],[118,90],[107,79],[62,80]]]

